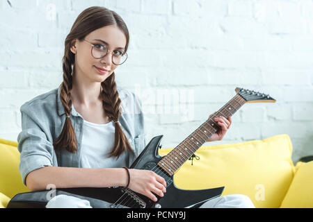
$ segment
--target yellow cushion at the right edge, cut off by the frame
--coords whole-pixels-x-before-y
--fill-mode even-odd
[[[313,207],[313,161],[299,162],[289,190],[282,201],[282,208]]]

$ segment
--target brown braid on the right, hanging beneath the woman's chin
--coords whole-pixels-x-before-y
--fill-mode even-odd
[[[106,115],[108,115],[109,119],[115,122],[115,143],[113,151],[109,153],[109,157],[119,157],[124,151],[133,151],[133,149],[131,148],[127,137],[123,133],[120,123],[118,123],[122,112],[120,109],[121,101],[118,97],[114,72],[111,76],[109,76],[109,78],[106,78],[106,80],[101,83],[101,86],[104,111],[106,112]]]

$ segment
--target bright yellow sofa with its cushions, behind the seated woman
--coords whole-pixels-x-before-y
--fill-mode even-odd
[[[159,149],[166,155],[172,148]],[[313,207],[313,161],[291,161],[288,135],[236,144],[201,146],[175,173],[182,189],[224,186],[222,196],[245,194],[255,207]],[[0,207],[29,191],[19,174],[17,142],[0,139]]]

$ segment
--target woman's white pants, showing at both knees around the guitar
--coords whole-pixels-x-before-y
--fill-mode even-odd
[[[92,208],[88,200],[64,194],[49,200],[47,208]],[[220,196],[200,205],[199,208],[255,208],[250,198],[242,194]]]

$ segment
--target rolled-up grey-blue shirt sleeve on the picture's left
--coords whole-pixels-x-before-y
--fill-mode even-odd
[[[17,149],[20,153],[19,173],[24,185],[26,176],[35,169],[52,166],[54,147],[47,140],[47,136],[40,127],[41,123],[36,118],[35,112],[29,108],[21,107],[22,132],[17,136]]]

